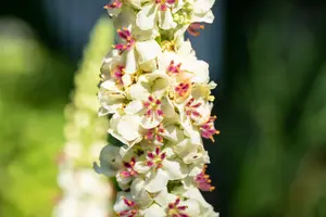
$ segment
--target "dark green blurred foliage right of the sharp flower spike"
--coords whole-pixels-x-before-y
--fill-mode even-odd
[[[293,22],[293,5],[274,9],[246,26],[247,63],[233,67],[229,106],[238,118],[221,136],[239,161],[230,213],[324,217],[325,51],[314,28]]]

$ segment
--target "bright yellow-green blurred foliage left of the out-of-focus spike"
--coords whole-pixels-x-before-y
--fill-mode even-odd
[[[74,67],[17,20],[1,21],[0,216],[51,216]]]

